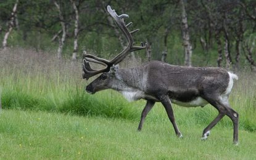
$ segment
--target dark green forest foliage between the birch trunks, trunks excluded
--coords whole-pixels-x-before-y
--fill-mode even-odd
[[[69,0],[57,1],[64,15],[67,26],[67,38],[64,44],[64,57],[70,58],[73,52],[75,12]],[[0,39],[7,31],[10,14],[15,1],[0,2]],[[181,9],[178,1],[75,1],[79,10],[78,57],[83,50],[87,50],[100,57],[114,57],[122,46],[107,20],[107,5],[112,6],[117,14],[128,14],[125,22],[133,22],[129,29],[140,29],[134,34],[134,42],[146,40],[152,44],[152,60],[160,60],[165,49],[164,38],[167,36],[167,62],[183,65],[184,50],[181,35]],[[255,36],[255,2],[254,1],[186,1],[189,34],[192,43],[193,66],[217,66],[217,31],[220,33],[222,48],[224,48],[225,34],[229,38],[229,51],[233,65],[250,65],[241,48],[242,42]],[[243,7],[244,6],[244,7]],[[19,28],[15,24],[8,39],[9,47],[35,48],[36,50],[54,50],[56,54],[59,39],[52,38],[61,30],[59,12],[53,1],[25,1],[20,0],[17,9]],[[225,26],[225,27],[224,27]],[[241,31],[242,26],[242,31]],[[224,30],[226,28],[226,30]],[[61,34],[61,33],[60,33]],[[242,35],[239,62],[236,64],[236,40]],[[59,35],[60,36],[60,35]],[[203,47],[203,39],[207,47]],[[253,46],[252,43],[249,46]],[[136,56],[145,58],[144,50],[136,52]],[[223,50],[222,66],[225,66]],[[252,57],[254,60],[255,57]]]

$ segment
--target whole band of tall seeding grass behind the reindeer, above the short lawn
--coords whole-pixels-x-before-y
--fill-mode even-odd
[[[127,62],[123,65],[127,66]],[[81,63],[35,50],[20,48],[0,52],[0,89],[2,108],[53,111],[78,115],[94,115],[138,121],[144,100],[128,103],[120,94],[105,90],[95,95],[85,93],[88,82],[81,78]],[[240,129],[256,130],[256,76],[249,72],[237,73],[229,102],[240,114]],[[91,81],[91,79],[90,79]],[[207,126],[217,116],[210,105],[204,108],[184,108],[174,105],[178,125]],[[162,105],[157,104],[147,116],[149,122],[168,121]],[[193,125],[191,125],[193,124]],[[223,127],[232,127],[231,120],[221,120]]]

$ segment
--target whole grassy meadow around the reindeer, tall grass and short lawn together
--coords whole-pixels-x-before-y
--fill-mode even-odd
[[[234,146],[226,116],[200,140],[218,114],[210,105],[173,106],[184,138],[176,138],[160,103],[137,132],[146,102],[127,102],[112,90],[87,94],[80,62],[17,48],[0,52],[0,68],[0,159],[256,159],[256,76],[250,71],[236,73],[229,98],[240,115]]]

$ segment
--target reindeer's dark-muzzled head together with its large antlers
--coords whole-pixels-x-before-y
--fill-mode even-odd
[[[133,46],[134,41],[132,34],[139,31],[139,29],[134,31],[129,31],[128,26],[130,26],[132,23],[128,23],[125,25],[125,21],[123,18],[128,18],[129,16],[126,14],[117,15],[115,10],[112,10],[110,6],[107,6],[107,11],[109,14],[114,18],[115,23],[117,24],[118,28],[122,31],[124,34],[126,40],[128,41],[128,45],[125,47],[125,49],[120,52],[115,58],[112,60],[105,60],[104,58],[99,58],[91,54],[86,54],[86,52],[83,55],[83,78],[89,79],[92,76],[95,76],[96,74],[103,73],[101,76],[99,76],[97,79],[95,79],[91,84],[89,84],[86,87],[86,91],[94,94],[95,92],[99,90],[109,89],[115,81],[118,81],[118,79],[115,77],[115,70],[117,70],[117,64],[122,62],[122,60],[130,53],[135,50],[141,50],[145,49],[146,45],[144,45],[141,42],[141,46]],[[104,65],[105,68],[102,70],[94,70],[89,65],[89,62],[97,63],[100,65]]]

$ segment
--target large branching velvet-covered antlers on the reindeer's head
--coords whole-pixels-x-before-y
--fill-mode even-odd
[[[117,65],[117,63],[122,62],[122,60],[130,52],[133,52],[135,50],[146,49],[146,45],[144,45],[142,42],[141,42],[141,46],[133,46],[133,43],[134,43],[133,42],[133,36],[131,36],[131,35],[136,33],[136,32],[138,32],[139,29],[134,30],[134,31],[129,31],[128,30],[128,26],[130,26],[132,24],[132,22],[130,22],[127,25],[125,25],[125,21],[123,20],[123,18],[128,18],[129,17],[128,15],[126,15],[126,14],[117,15],[115,10],[112,10],[110,6],[107,6],[107,11],[114,18],[118,28],[120,28],[122,33],[125,35],[125,38],[128,41],[128,46],[126,46],[126,48],[123,49],[122,52],[120,52],[120,54],[118,54],[112,60],[105,60],[104,58],[99,58],[99,57],[96,57],[96,56],[91,55],[91,54],[86,54],[86,52],[84,52],[84,54],[83,54],[83,58],[84,58],[83,59],[83,71],[85,72],[85,73],[83,73],[83,78],[84,79],[85,78],[89,79],[92,76],[95,76],[96,74],[109,71],[110,67],[112,65]],[[105,68],[102,69],[102,70],[93,70],[91,68],[91,66],[89,65],[89,62],[93,62],[93,63],[98,63],[98,64],[101,64],[101,65],[104,65]]]

